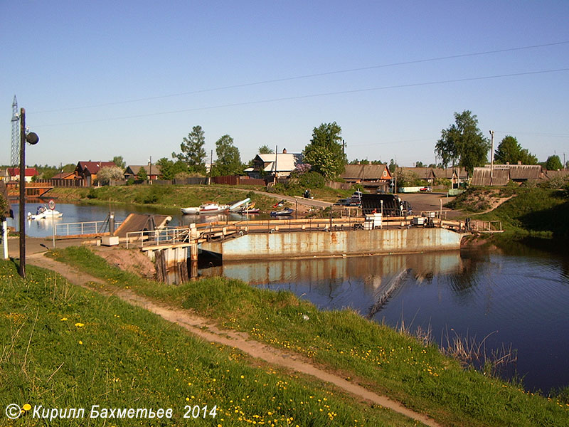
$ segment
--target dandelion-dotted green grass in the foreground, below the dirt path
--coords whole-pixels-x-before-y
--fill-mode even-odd
[[[2,426],[415,426],[326,384],[203,342],[116,297],[70,285],[55,273],[0,261]],[[8,404],[32,410],[4,418]],[[85,408],[85,419],[33,418],[33,406]],[[148,421],[89,420],[101,408],[172,408]],[[186,406],[217,406],[184,419]],[[203,412],[202,412],[203,414]],[[356,421],[357,420],[357,421]],[[365,421],[364,421],[365,420]],[[90,423],[88,423],[90,421]]]

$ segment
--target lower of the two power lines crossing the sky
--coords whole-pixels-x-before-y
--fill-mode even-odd
[[[540,70],[540,71],[528,71],[526,73],[510,73],[510,74],[500,74],[500,75],[486,75],[482,77],[471,77],[471,78],[458,78],[452,80],[437,80],[432,82],[423,82],[423,83],[406,83],[403,85],[390,85],[390,86],[380,86],[377,88],[364,88],[364,89],[354,89],[354,90],[340,90],[338,92],[328,92],[328,93],[314,93],[309,95],[297,95],[291,97],[280,97],[280,98],[272,98],[267,100],[257,100],[257,101],[247,101],[247,102],[235,102],[231,104],[221,104],[221,105],[211,105],[209,107],[194,107],[194,108],[184,108],[182,110],[171,110],[171,111],[163,111],[163,112],[149,112],[147,114],[141,115],[129,115],[129,116],[121,116],[121,117],[108,117],[105,119],[97,119],[97,120],[84,120],[80,122],[66,122],[66,123],[58,123],[52,125],[36,125],[36,127],[51,127],[51,126],[63,126],[63,125],[83,125],[87,123],[97,123],[97,122],[109,122],[111,120],[127,120],[127,119],[136,119],[141,117],[152,117],[156,115],[170,115],[176,114],[180,112],[191,112],[191,111],[203,111],[203,110],[214,110],[218,108],[227,108],[227,107],[241,107],[244,105],[255,105],[255,104],[264,104],[267,102],[280,102],[280,101],[289,101],[289,100],[300,100],[300,99],[307,99],[311,97],[321,97],[321,96],[332,96],[332,95],[346,95],[350,93],[363,93],[363,92],[371,92],[375,90],[388,90],[388,89],[400,89],[400,88],[415,88],[419,86],[428,86],[428,85],[442,85],[447,83],[462,83],[468,81],[475,81],[475,80],[490,80],[494,78],[506,78],[506,77],[516,77],[521,75],[535,75],[535,74],[544,74],[544,73],[558,73],[562,71],[569,71],[569,68],[557,68],[554,70]]]

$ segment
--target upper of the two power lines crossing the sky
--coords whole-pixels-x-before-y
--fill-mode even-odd
[[[188,92],[181,92],[181,93],[171,93],[168,95],[157,95],[154,97],[142,97],[137,98],[134,100],[122,100],[122,101],[115,101],[115,102],[106,102],[104,104],[93,104],[93,105],[85,105],[83,107],[68,107],[68,108],[60,108],[57,110],[43,110],[43,111],[36,111],[34,114],[41,114],[46,112],[61,112],[61,111],[72,111],[72,110],[85,110],[88,108],[97,108],[97,107],[108,107],[110,105],[121,105],[127,104],[131,102],[142,102],[142,101],[149,101],[149,100],[160,100],[169,97],[179,97],[184,95],[196,95],[198,93],[207,93],[207,92],[214,92],[217,90],[227,90],[227,89],[235,89],[235,88],[246,88],[248,86],[255,86],[255,85],[266,85],[269,83],[281,83],[291,80],[301,80],[304,78],[314,78],[314,77],[322,77],[324,75],[334,75],[334,74],[343,74],[343,73],[353,73],[356,71],[366,71],[366,70],[376,70],[378,68],[389,68],[389,67],[397,67],[400,65],[411,65],[411,64],[419,64],[419,63],[428,63],[428,62],[435,62],[439,60],[449,60],[449,59],[457,59],[457,58],[468,58],[472,56],[483,56],[483,55],[491,55],[494,53],[505,53],[505,52],[514,52],[514,51],[523,51],[527,49],[536,49],[536,48],[545,48],[548,46],[559,46],[563,44],[568,44],[569,41],[558,41],[555,43],[544,43],[539,45],[533,46],[520,46],[515,48],[505,48],[505,49],[497,49],[494,51],[484,51],[484,52],[474,52],[474,53],[460,53],[457,55],[450,55],[450,56],[440,56],[437,58],[427,58],[427,59],[418,59],[418,60],[408,60],[398,63],[388,63],[388,64],[381,64],[381,65],[371,65],[368,67],[360,67],[360,68],[347,68],[345,70],[333,70],[333,71],[326,71],[324,73],[314,73],[314,74],[306,74],[306,75],[297,75],[293,77],[285,77],[285,78],[277,78],[272,80],[261,80],[259,82],[253,83],[240,83],[238,85],[228,85],[228,86],[220,86],[218,88],[209,88],[209,89],[200,89],[200,90],[191,90]]]

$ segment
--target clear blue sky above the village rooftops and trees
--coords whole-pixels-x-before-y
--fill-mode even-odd
[[[301,152],[337,122],[351,159],[435,162],[471,110],[496,143],[569,159],[569,1],[2,1],[0,164],[11,104],[28,164],[147,163],[201,125]],[[531,47],[538,46],[538,47]],[[215,159],[215,151],[214,151]]]

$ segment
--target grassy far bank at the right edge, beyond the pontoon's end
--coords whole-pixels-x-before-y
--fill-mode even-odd
[[[450,204],[452,209],[477,213],[487,209],[490,197],[511,197],[493,211],[474,215],[484,221],[502,221],[504,235],[565,238],[569,236],[569,197],[565,189],[539,187],[487,189],[464,192]]]

